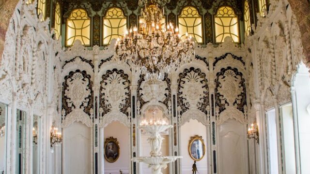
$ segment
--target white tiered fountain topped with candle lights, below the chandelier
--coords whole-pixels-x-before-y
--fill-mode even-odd
[[[150,84],[151,85],[151,84]],[[153,94],[155,93],[154,89],[156,85],[152,84],[151,89]],[[155,96],[153,100],[155,99]],[[168,124],[168,119],[163,118],[163,116],[159,116],[155,118],[157,114],[158,108],[149,109],[152,118],[143,118],[140,122],[139,129],[142,131],[149,133],[150,137],[147,139],[151,145],[150,157],[135,157],[132,160],[135,162],[143,162],[148,164],[148,167],[151,169],[152,174],[162,174],[162,169],[167,168],[167,164],[174,162],[178,158],[182,158],[181,156],[161,156],[161,145],[163,141],[163,137],[161,133],[168,131],[172,128],[172,125]]]

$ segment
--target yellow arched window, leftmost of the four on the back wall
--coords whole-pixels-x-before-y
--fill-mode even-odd
[[[84,9],[73,10],[66,24],[66,46],[80,40],[85,46],[91,45],[91,19]]]

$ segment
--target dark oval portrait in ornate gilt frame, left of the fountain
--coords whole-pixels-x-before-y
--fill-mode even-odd
[[[105,159],[108,162],[115,162],[120,156],[120,144],[117,138],[107,138],[105,141]]]

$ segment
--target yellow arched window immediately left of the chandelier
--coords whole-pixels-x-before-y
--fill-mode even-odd
[[[121,38],[126,30],[127,18],[120,8],[110,8],[103,19],[103,44],[107,45],[112,39]]]

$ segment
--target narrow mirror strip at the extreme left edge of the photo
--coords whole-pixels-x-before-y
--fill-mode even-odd
[[[0,174],[5,174],[7,105],[0,103]]]

